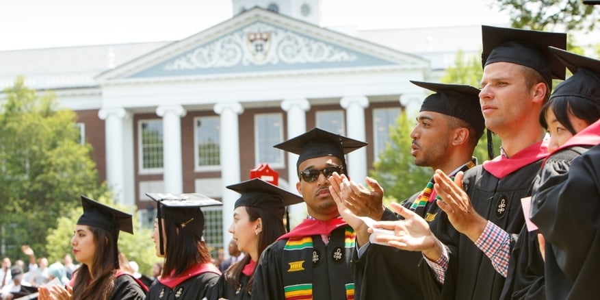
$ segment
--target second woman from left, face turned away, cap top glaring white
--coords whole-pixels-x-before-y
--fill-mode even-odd
[[[164,258],[162,273],[150,286],[147,299],[203,299],[221,272],[212,264],[203,239],[200,208],[222,205],[200,194],[146,193],[157,201],[152,238],[156,255]]]

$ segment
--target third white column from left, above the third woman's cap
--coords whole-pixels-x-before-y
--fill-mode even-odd
[[[244,112],[244,108],[238,102],[216,103],[213,110],[220,115],[221,140],[219,149],[221,153],[221,188],[223,191],[223,249],[227,249],[232,237],[227,229],[233,222],[233,207],[239,194],[229,190],[226,186],[241,181],[239,173],[238,115]]]

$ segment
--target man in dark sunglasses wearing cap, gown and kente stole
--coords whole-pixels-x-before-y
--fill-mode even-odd
[[[345,154],[365,145],[314,128],[274,146],[299,155],[296,188],[309,216],[263,251],[253,299],[355,299],[354,230],[339,216],[328,177],[347,173]]]

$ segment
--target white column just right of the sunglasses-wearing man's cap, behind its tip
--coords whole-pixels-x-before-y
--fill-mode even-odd
[[[342,97],[340,105],[346,111],[346,125],[348,126],[348,138],[366,140],[365,133],[365,108],[369,107],[369,99],[365,96]],[[361,184],[365,184],[367,177],[367,149],[361,149],[348,153],[348,176]]]

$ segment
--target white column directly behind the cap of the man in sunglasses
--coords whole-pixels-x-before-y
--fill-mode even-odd
[[[306,111],[311,109],[311,103],[304,98],[290,98],[281,101],[281,108],[287,113],[287,138],[294,138],[306,132]],[[296,169],[298,154],[287,153],[287,178],[289,191],[298,194],[298,170]],[[294,228],[306,218],[306,203],[298,203],[289,207],[289,228]]]

